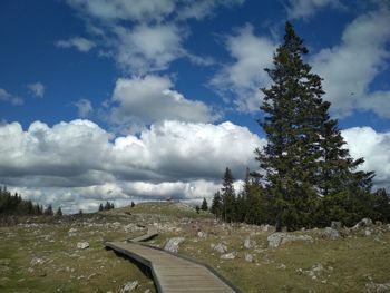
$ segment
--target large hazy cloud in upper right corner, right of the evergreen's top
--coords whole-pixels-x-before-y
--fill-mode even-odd
[[[353,20],[343,31],[341,43],[312,57],[313,70],[324,78],[325,99],[338,116],[355,109],[373,110],[390,117],[390,92],[370,91],[374,78],[387,68],[390,51],[389,10],[382,7]]]

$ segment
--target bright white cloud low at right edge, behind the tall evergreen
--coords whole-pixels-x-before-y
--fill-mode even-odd
[[[376,172],[374,182],[390,188],[390,133],[371,127],[353,127],[342,131],[353,158],[364,157],[361,169]]]

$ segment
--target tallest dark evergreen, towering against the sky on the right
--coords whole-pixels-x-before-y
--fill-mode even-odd
[[[267,145],[255,153],[265,170],[276,231],[282,226],[296,229],[319,224],[326,209],[323,203],[332,208],[341,201],[341,214],[354,213],[352,203],[369,196],[373,176],[354,172],[362,159],[351,159],[342,148],[344,141],[337,121],[328,114],[330,102],[322,100],[321,78],[302,59],[306,53],[303,40],[286,22],[274,67],[265,69],[273,81],[270,88],[262,89],[261,109],[265,115],[260,124]],[[343,197],[351,198],[351,194],[354,198],[348,203]],[[330,201],[334,196],[338,198]],[[340,203],[335,206],[339,208]]]

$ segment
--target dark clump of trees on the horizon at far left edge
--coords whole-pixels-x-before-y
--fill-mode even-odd
[[[42,208],[22,199],[18,193],[12,195],[7,187],[0,187],[0,215],[42,215]]]

